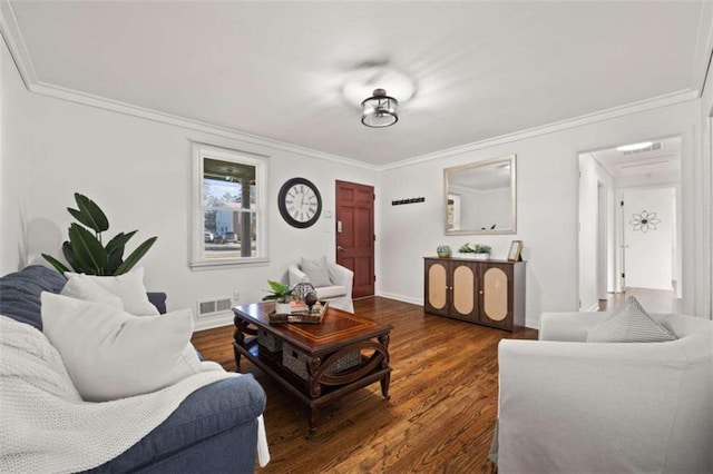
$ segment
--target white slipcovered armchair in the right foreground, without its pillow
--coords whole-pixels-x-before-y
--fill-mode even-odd
[[[498,471],[713,472],[713,322],[652,315],[663,343],[585,343],[603,313],[544,314],[498,346]]]

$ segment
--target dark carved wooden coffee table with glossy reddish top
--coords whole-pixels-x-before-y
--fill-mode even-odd
[[[235,364],[240,371],[241,356],[245,356],[307,406],[307,437],[316,429],[322,405],[374,382],[381,383],[381,394],[389,398],[390,324],[333,308],[328,309],[321,324],[271,324],[267,315],[274,306],[257,303],[233,307]],[[283,357],[291,358],[286,361],[289,366]],[[350,361],[346,368],[345,361]]]

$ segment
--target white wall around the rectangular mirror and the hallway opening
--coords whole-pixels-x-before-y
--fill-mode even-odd
[[[700,117],[696,100],[661,107],[618,118],[561,129],[531,138],[492,140],[445,151],[394,166],[381,174],[384,201],[399,196],[423,195],[421,205],[383,208],[381,251],[377,279],[382,295],[413,303],[423,300],[424,256],[436,254],[439,244],[458,248],[465,241],[487,244],[494,257],[505,258],[512,239],[524,240],[527,260],[527,325],[537,327],[543,312],[577,310],[578,160],[582,151],[635,142],[652,136],[683,137],[683,174],[693,179],[700,157],[693,149]],[[502,236],[445,236],[442,169],[495,157],[517,155],[517,234]],[[385,186],[388,184],[388,186]],[[693,221],[704,213],[694,190],[683,197],[684,233],[693,235]],[[707,211],[707,210],[705,210]],[[684,251],[692,263],[699,251]],[[685,271],[693,274],[694,266]],[[693,278],[691,278],[692,280]],[[692,297],[692,295],[690,295]]]

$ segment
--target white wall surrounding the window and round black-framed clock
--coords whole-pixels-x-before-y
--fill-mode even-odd
[[[4,43],[2,50],[4,65],[8,55]],[[18,80],[17,69],[3,68],[3,92],[6,82],[14,86],[11,93],[3,93],[3,124],[11,122],[8,131],[19,137],[31,136],[31,141],[18,140],[8,150],[3,146],[3,241],[0,246],[3,274],[19,266],[13,255],[18,247],[25,247],[27,264],[43,264],[41,253],[61,254],[60,245],[72,221],[66,208],[74,207],[72,195],[79,191],[107,213],[110,236],[139,229],[129,248],[158,236],[139,265],[146,268],[147,288],[168,294],[169,310],[191,307],[195,314],[196,300],[231,297],[234,290],[240,292],[241,302],[255,302],[264,296],[266,280],[281,278],[287,264],[302,255],[325,255],[334,260],[334,219],[324,214],[334,213],[336,179],[377,184],[375,171],[351,166],[346,160],[314,158],[307,152],[254,145],[30,93],[17,87]],[[6,127],[3,135],[4,131]],[[191,140],[270,157],[267,208],[274,211],[268,216],[268,265],[202,271],[188,268]],[[29,179],[23,184],[22,178],[28,174]],[[296,176],[312,180],[324,203],[323,217],[309,229],[290,227],[276,210],[280,186]],[[18,206],[22,199],[27,199],[27,205]],[[19,213],[23,229],[16,223]],[[378,213],[377,209],[377,216]],[[11,223],[6,224],[8,219]],[[231,323],[232,316],[227,314],[201,319],[196,327]]]

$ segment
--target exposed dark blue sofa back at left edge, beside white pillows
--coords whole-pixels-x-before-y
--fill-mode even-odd
[[[0,314],[42,330],[40,294],[59,293],[67,279],[57,270],[30,265],[0,278]]]

